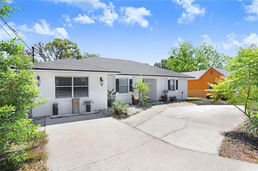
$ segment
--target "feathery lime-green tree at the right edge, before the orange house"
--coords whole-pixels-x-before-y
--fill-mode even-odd
[[[236,106],[247,118],[247,132],[253,131],[258,135],[258,48],[239,48],[236,57],[227,57],[228,77],[216,80],[217,85],[209,83],[213,92],[209,93],[215,101],[226,98]],[[243,105],[244,109],[237,105]],[[256,109],[255,109],[256,108]],[[255,111],[253,111],[255,110]],[[256,114],[255,114],[256,113]]]

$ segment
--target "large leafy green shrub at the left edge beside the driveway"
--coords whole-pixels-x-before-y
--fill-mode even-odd
[[[29,72],[30,58],[24,58],[24,47],[15,38],[0,43],[0,121],[1,156],[12,144],[21,144],[40,135],[27,118],[28,108],[46,103],[38,100],[39,92]]]

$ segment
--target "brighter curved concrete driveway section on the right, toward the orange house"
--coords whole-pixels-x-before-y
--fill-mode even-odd
[[[132,124],[133,119],[123,122]],[[134,127],[176,147],[218,155],[223,132],[244,119],[231,105],[168,107]]]

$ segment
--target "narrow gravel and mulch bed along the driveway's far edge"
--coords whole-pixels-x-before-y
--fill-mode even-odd
[[[225,101],[219,100],[213,102],[212,99],[202,98],[196,101],[184,101],[178,100],[173,102],[166,102],[169,107],[179,107],[179,106],[200,106],[200,105],[231,105],[231,103],[225,103]]]

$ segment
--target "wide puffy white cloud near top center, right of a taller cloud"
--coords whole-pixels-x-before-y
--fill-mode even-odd
[[[150,16],[150,10],[144,7],[121,7],[120,12],[124,15],[120,18],[120,22],[126,25],[134,25],[138,23],[141,27],[148,27],[149,22],[144,18],[144,16]]]

